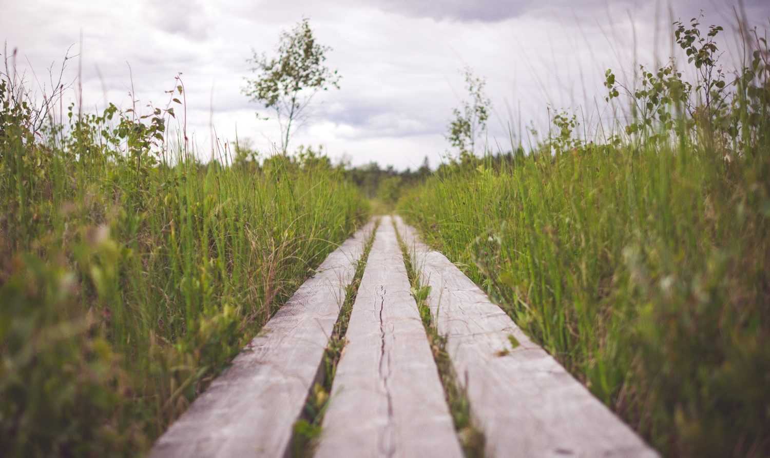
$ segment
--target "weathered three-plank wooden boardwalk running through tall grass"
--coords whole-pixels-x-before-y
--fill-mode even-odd
[[[374,234],[315,456],[462,456],[396,230],[486,436],[486,456],[658,456],[400,218]],[[286,456],[373,223],[343,243],[151,456]],[[513,346],[510,337],[520,345]]]

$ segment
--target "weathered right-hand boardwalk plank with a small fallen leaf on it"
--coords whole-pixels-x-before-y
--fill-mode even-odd
[[[467,383],[487,456],[658,456],[446,256],[396,221],[423,284],[431,287],[427,300]],[[508,336],[520,346],[512,348]]]

